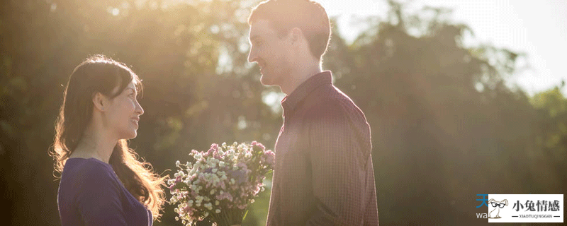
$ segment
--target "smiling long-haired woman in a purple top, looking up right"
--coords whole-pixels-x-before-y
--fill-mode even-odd
[[[159,218],[164,178],[126,143],[144,114],[141,88],[128,66],[101,55],[69,77],[52,152],[63,226],[152,225]]]

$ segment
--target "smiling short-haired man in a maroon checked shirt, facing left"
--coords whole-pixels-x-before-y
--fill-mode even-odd
[[[269,0],[248,23],[248,61],[259,64],[262,84],[286,94],[266,225],[378,225],[369,124],[321,70],[325,9]]]

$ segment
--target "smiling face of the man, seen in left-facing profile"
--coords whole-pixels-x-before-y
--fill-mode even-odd
[[[249,40],[248,61],[260,66],[262,84],[281,85],[290,79],[290,49],[286,47],[286,37],[280,39],[268,20],[257,20],[250,26]]]

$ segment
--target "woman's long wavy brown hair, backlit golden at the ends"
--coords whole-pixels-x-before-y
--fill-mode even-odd
[[[133,80],[137,81],[136,89],[141,92],[140,78],[128,66],[103,55],[89,57],[74,69],[65,88],[55,125],[55,143],[51,151],[55,159],[55,172],[59,175],[63,172],[65,162],[79,145],[91,121],[93,95],[101,93],[116,97]],[[116,86],[118,92],[112,93]],[[120,140],[114,146],[108,163],[130,194],[147,206],[157,219],[164,203],[162,186],[165,178],[155,174],[150,163],[137,159],[134,150],[128,148],[127,141]]]

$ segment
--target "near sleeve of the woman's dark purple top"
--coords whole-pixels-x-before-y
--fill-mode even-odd
[[[112,174],[110,169],[96,166],[79,180],[76,204],[84,225],[126,225],[120,184]]]

